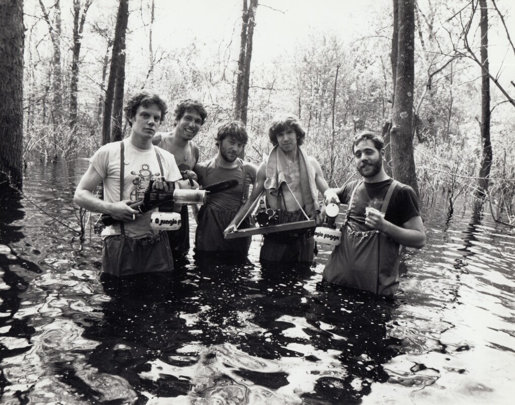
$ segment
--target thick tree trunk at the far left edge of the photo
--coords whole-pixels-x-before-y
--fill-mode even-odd
[[[0,2],[0,194],[23,179],[23,1]]]

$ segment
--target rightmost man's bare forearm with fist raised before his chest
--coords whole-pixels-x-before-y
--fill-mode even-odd
[[[385,220],[380,212],[371,208],[365,219],[370,228],[385,233],[397,243],[408,247],[422,248],[425,245],[425,229],[420,216],[414,216],[402,224],[402,227]]]

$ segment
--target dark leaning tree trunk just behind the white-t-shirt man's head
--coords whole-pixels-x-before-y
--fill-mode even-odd
[[[102,120],[102,145],[111,142],[111,113],[113,111],[114,90],[116,85],[116,79],[118,76],[118,66],[121,63],[122,59],[122,49],[125,49],[125,32],[127,30],[128,19],[128,0],[120,0],[118,14],[116,16],[116,27],[114,29],[113,53],[111,56],[111,68],[109,70],[109,82],[107,85],[106,98],[104,101],[104,117]],[[119,127],[121,128],[121,124],[119,124]]]

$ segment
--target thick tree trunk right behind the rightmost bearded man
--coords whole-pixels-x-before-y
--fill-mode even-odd
[[[419,195],[413,156],[413,93],[415,76],[414,0],[399,0],[399,42],[390,129],[393,177]]]

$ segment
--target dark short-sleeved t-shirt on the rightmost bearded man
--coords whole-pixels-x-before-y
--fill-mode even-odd
[[[354,190],[356,183],[361,181],[352,181],[336,192],[341,204],[349,204],[352,190]],[[352,229],[360,231],[370,230],[365,225],[365,208],[372,207],[381,211],[383,199],[392,181],[392,179],[377,183],[366,183],[363,181],[358,185],[352,202],[353,208],[349,215],[349,225]],[[349,209],[351,208],[349,207]],[[385,220],[394,225],[402,226],[411,218],[419,215],[419,200],[413,189],[409,185],[404,185],[402,188],[396,187],[390,198]]]

